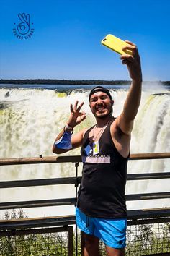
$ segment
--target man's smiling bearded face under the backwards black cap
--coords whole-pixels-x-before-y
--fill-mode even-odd
[[[90,108],[95,117],[102,119],[112,114],[112,106],[113,101],[107,93],[97,92],[91,95]]]

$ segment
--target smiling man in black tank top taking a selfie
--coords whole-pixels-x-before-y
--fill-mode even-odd
[[[126,205],[125,183],[130,136],[140,104],[142,72],[135,44],[126,41],[133,56],[120,56],[126,64],[132,84],[122,114],[112,116],[114,101],[109,90],[98,86],[89,94],[89,106],[97,124],[72,136],[73,128],[86,119],[76,101],[71,115],[53,145],[53,153],[65,153],[81,146],[84,163],[76,208],[76,222],[85,237],[85,256],[99,255],[99,239],[106,244],[108,256],[125,255]]]

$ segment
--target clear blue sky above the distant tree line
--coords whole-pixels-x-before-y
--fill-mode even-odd
[[[0,0],[0,78],[129,80],[119,55],[100,41],[111,33],[136,43],[143,80],[170,80],[169,0]],[[19,13],[34,33],[17,38]],[[14,25],[15,23],[15,25]]]

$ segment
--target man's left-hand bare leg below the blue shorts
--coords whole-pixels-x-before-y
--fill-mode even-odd
[[[99,238],[84,233],[84,256],[99,256]]]

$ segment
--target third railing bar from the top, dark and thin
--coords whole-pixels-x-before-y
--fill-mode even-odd
[[[146,194],[135,194],[125,195],[127,201],[134,200],[153,200],[170,198],[170,192],[158,192],[158,193],[146,193]],[[32,200],[32,201],[18,201],[18,202],[1,202],[0,210],[5,209],[17,209],[17,208],[36,208],[45,206],[59,206],[59,205],[74,205],[76,198],[63,198],[63,199],[52,199],[52,200]]]

